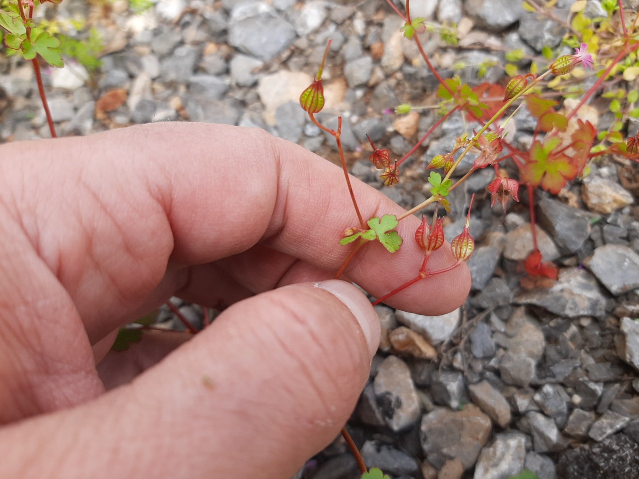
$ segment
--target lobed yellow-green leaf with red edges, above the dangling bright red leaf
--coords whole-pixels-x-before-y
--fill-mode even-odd
[[[566,185],[566,181],[577,176],[578,167],[564,155],[554,155],[553,149],[561,140],[550,137],[544,143],[535,140],[530,147],[528,162],[521,169],[521,181],[528,185],[541,186],[544,190],[557,194]]]

